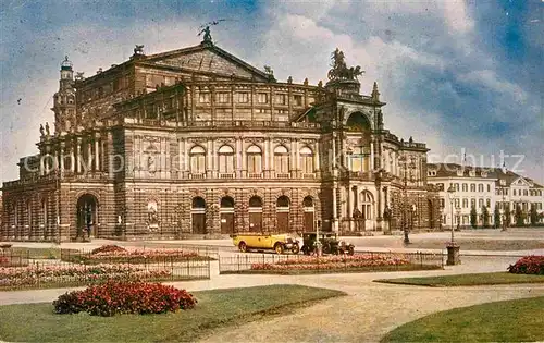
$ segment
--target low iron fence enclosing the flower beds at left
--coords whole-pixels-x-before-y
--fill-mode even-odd
[[[29,259],[0,268],[0,291],[84,286],[108,280],[183,281],[210,279],[210,258],[182,253],[143,258],[89,259],[90,252],[61,249],[61,259]]]

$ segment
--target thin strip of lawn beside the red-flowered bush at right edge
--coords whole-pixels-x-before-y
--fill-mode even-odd
[[[380,279],[374,280],[374,282],[450,287],[485,284],[542,283],[544,282],[544,275],[514,274],[500,271],[425,278]]]

